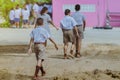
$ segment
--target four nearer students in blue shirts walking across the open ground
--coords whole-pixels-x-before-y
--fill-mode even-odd
[[[85,30],[85,17],[81,14],[80,5],[75,5],[76,12],[71,15],[69,9],[65,10],[65,17],[60,22],[60,27],[63,31],[63,43],[64,43],[64,59],[68,58],[68,43],[72,43],[70,55],[75,57],[80,57],[81,41],[83,39],[83,31]],[[43,62],[45,60],[45,47],[46,41],[49,39],[58,50],[58,46],[55,41],[51,38],[50,29],[48,27],[48,22],[51,23],[57,30],[53,22],[51,21],[49,15],[47,14],[47,8],[44,7],[37,18],[36,26],[32,30],[30,36],[30,43],[28,53],[32,53],[32,44],[34,43],[34,51],[37,59],[37,65],[35,69],[35,74],[33,79],[39,80],[38,73],[41,71],[42,76],[46,74],[43,68]],[[75,55],[74,55],[74,50]]]

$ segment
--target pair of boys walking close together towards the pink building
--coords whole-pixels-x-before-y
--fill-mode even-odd
[[[63,31],[64,42],[64,58],[67,59],[68,42],[72,43],[70,54],[74,56],[73,52],[76,48],[75,57],[80,57],[81,41],[83,39],[83,31],[85,30],[85,17],[81,14],[80,5],[75,6],[76,12],[71,15],[69,9],[65,10],[65,17],[60,22],[60,27]]]

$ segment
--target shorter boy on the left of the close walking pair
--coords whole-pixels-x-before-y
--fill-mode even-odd
[[[72,43],[70,53],[71,53],[71,56],[73,56],[73,50],[75,47],[73,29],[75,29],[75,31],[78,35],[76,25],[77,25],[76,21],[70,16],[70,10],[66,9],[65,17],[60,22],[60,27],[62,28],[62,31],[63,31],[64,59],[68,58],[67,49],[68,49],[69,42]]]

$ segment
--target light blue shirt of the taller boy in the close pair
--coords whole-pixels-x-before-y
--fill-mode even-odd
[[[85,20],[85,16],[81,14],[79,11],[72,14],[72,17],[78,23],[78,25],[83,25],[83,21]]]

